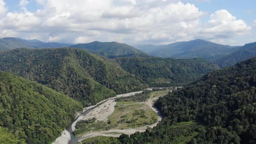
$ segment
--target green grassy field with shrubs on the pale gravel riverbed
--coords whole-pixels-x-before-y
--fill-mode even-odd
[[[157,119],[157,114],[145,103],[120,101],[115,105],[115,111],[108,117],[108,121],[79,121],[75,134],[142,127],[156,123]]]

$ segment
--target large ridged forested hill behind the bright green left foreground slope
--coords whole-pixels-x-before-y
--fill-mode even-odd
[[[82,49],[13,49],[0,53],[0,70],[46,85],[84,106],[148,87],[118,65]]]

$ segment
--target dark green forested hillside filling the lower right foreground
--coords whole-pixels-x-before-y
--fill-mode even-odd
[[[161,123],[130,138],[122,135],[118,141],[255,144],[256,57],[210,72],[199,81],[159,98],[156,105],[164,116]]]

